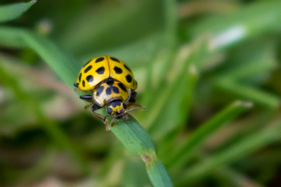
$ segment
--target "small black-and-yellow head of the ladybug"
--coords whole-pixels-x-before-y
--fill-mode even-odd
[[[107,113],[109,115],[116,115],[117,119],[122,119],[125,110],[126,104],[122,100],[110,101],[107,104]]]

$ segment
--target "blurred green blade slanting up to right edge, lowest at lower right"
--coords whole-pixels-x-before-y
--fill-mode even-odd
[[[281,136],[281,123],[278,121],[276,124],[270,125],[266,129],[262,129],[247,138],[235,143],[233,146],[228,147],[221,153],[217,153],[210,157],[204,158],[202,162],[188,169],[188,171],[181,173],[181,180],[177,181],[179,186],[187,185],[193,181],[202,179],[213,169],[220,167],[226,163],[232,163],[246,155],[254,153],[256,150],[267,146],[270,143],[280,141]]]

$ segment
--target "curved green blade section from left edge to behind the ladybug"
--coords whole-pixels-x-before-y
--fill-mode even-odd
[[[55,44],[44,37],[23,29],[0,27],[0,42],[8,46],[28,46],[43,58],[70,87],[77,79],[81,65],[65,55]]]

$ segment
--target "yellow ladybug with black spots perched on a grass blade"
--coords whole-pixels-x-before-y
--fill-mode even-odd
[[[136,89],[138,83],[133,77],[133,72],[122,60],[111,56],[100,56],[89,60],[79,72],[77,82],[74,83],[79,91],[91,91],[91,95],[80,96],[89,102],[85,108],[91,106],[93,115],[105,122],[106,130],[115,120],[129,121],[129,111],[146,109],[136,104]],[[107,107],[107,116],[96,113],[96,110]],[[107,117],[112,115],[109,124]]]

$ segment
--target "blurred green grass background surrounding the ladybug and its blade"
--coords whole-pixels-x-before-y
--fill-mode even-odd
[[[101,55],[131,67],[148,108],[132,115],[174,186],[281,186],[280,10],[269,0],[38,0],[1,22],[0,186],[152,186],[141,158],[84,110],[76,77],[60,79],[67,64],[45,63],[52,53],[76,59],[75,76]],[[60,51],[42,55],[43,41]]]

